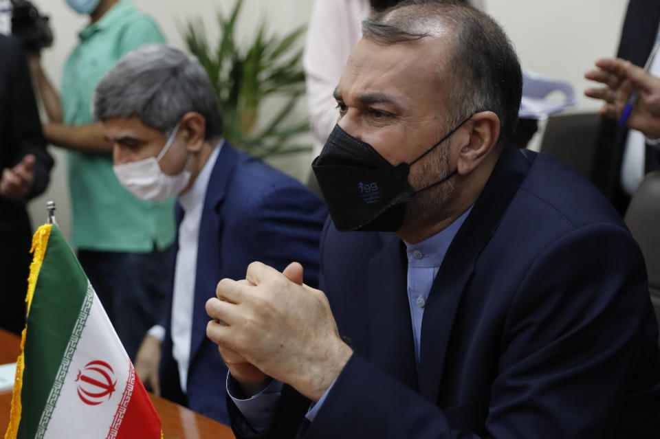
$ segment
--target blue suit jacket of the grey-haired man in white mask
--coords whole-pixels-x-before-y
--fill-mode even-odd
[[[279,270],[298,261],[305,267],[305,282],[318,284],[319,238],[326,217],[322,201],[298,181],[235,150],[228,142],[222,146],[199,225],[186,394],[190,409],[229,423],[227,368],[217,345],[206,337],[210,317],[204,306],[215,296],[217,283],[222,278],[245,278],[248,264],[259,260]],[[182,219],[183,211],[177,205],[177,224]],[[170,299],[159,375],[163,395],[180,401],[170,337],[171,309]]]

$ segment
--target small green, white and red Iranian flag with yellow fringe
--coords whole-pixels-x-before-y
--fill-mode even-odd
[[[160,439],[158,415],[87,276],[39,227],[8,438]]]

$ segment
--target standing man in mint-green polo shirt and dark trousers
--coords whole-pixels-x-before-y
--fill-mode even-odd
[[[112,145],[91,116],[98,80],[115,62],[145,43],[164,43],[150,16],[131,1],[66,0],[89,15],[65,65],[60,92],[39,56],[30,67],[47,114],[47,142],[67,149],[72,198],[72,243],[131,359],[166,306],[164,282],[175,235],[173,200],[142,201],[112,171]]]

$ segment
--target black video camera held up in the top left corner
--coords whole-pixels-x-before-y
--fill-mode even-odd
[[[12,35],[23,42],[25,52],[38,53],[53,45],[49,17],[39,14],[28,0],[11,0]]]

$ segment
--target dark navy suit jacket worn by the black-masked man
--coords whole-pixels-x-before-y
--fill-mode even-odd
[[[501,155],[434,280],[419,374],[401,240],[329,223],[321,254],[355,353],[313,423],[286,387],[263,437],[301,425],[305,438],[660,436],[643,258],[606,199],[555,159]]]

